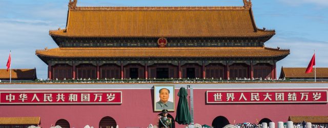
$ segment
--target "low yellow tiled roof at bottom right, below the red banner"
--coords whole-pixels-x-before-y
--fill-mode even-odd
[[[328,123],[328,116],[289,116],[288,120],[294,123],[302,123],[303,120],[311,123]]]

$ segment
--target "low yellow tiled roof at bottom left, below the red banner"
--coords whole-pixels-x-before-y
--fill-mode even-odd
[[[40,117],[0,117],[0,125],[40,124]]]

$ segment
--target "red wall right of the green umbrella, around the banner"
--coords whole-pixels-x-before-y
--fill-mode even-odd
[[[211,89],[218,91],[218,89]],[[245,90],[245,89],[243,89]],[[249,89],[249,90],[281,90],[292,89]],[[295,89],[293,89],[295,90]],[[296,89],[297,91],[305,89]],[[306,89],[307,91],[309,89]],[[311,89],[327,90],[327,89]],[[286,122],[292,115],[328,115],[326,103],[239,103],[239,104],[206,104],[206,91],[195,90],[194,111],[195,122],[200,124],[212,124],[217,116],[226,117],[231,124],[235,123],[258,123],[263,118],[269,118],[277,124],[278,121]],[[224,91],[224,90],[220,90]],[[229,90],[232,91],[232,90]]]

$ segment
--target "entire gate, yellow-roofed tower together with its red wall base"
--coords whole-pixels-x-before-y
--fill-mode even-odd
[[[164,109],[182,128],[174,119],[183,96],[193,122],[214,128],[288,120],[328,127],[328,82],[277,80],[276,63],[290,50],[265,47],[276,32],[256,26],[250,0],[229,7],[70,0],[66,27],[49,34],[58,48],[35,51],[49,79],[12,70],[14,79],[34,81],[0,83],[0,128],[157,126]],[[305,76],[291,69],[282,77]]]

